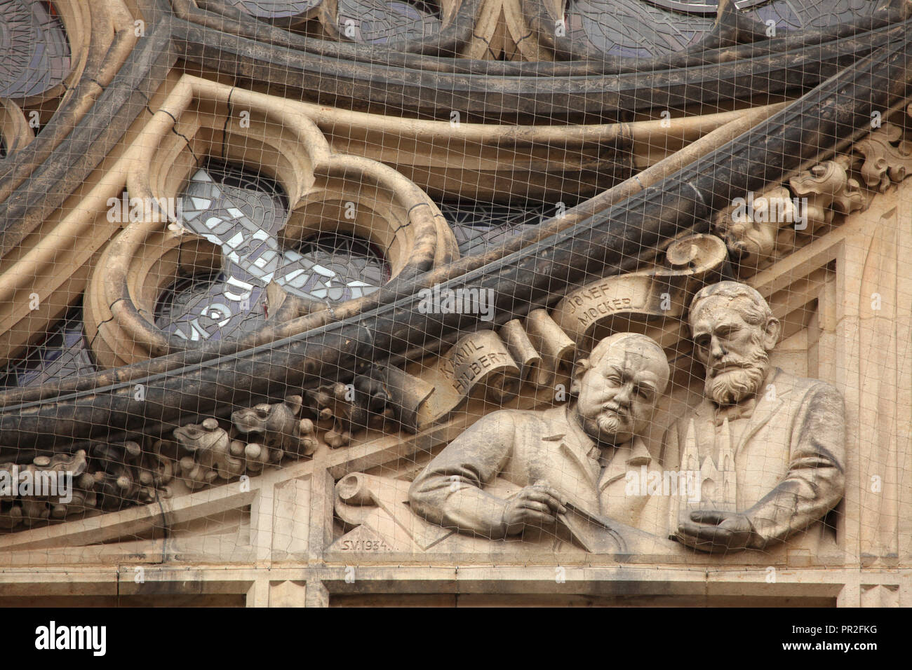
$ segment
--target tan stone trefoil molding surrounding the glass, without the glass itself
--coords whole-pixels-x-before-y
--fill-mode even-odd
[[[130,201],[141,204],[142,215],[109,244],[86,291],[87,333],[102,367],[202,344],[164,334],[153,314],[158,294],[176,271],[218,265],[218,251],[187,231],[176,211],[181,186],[204,156],[256,167],[282,185],[292,212],[280,237],[285,246],[294,246],[307,232],[356,232],[384,250],[390,281],[409,279],[459,255],[450,228],[424,191],[386,165],[334,153],[293,101],[183,77],[134,147],[127,191]],[[351,221],[344,213],[348,202],[354,203]],[[286,300],[277,286],[272,291],[282,303],[274,321],[330,306]],[[367,296],[332,306],[358,314],[364,304]]]

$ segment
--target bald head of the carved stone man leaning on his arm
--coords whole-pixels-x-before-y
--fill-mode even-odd
[[[646,335],[618,333],[576,364],[570,391],[586,433],[605,444],[622,444],[648,427],[666,386],[662,347]]]

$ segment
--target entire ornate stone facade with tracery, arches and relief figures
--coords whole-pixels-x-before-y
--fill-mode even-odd
[[[0,601],[912,605],[907,4],[57,5]]]

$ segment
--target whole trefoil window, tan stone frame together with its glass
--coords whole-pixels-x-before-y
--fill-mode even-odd
[[[126,179],[137,216],[130,209],[129,223],[121,219],[127,224],[87,289],[86,332],[101,369],[247,342],[266,322],[294,334],[330,303],[358,310],[399,273],[458,257],[427,193],[378,161],[331,151],[310,118],[318,110],[272,103],[183,77],[165,101],[168,113],[138,139]],[[208,111],[196,112],[205,122],[189,135],[170,132],[190,104]],[[381,253],[348,253],[343,265],[361,266],[321,265],[325,274],[314,276],[319,263],[298,250],[326,232],[357,235]]]

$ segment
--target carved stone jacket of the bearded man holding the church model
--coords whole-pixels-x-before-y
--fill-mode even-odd
[[[681,467],[691,420],[700,459],[718,459],[723,432],[718,415],[704,398],[679,418],[666,433],[664,462]],[[773,368],[752,412],[731,422],[730,443],[736,510],[747,515],[756,531],[751,549],[819,526],[843,497],[845,406],[840,393],[824,381]]]

